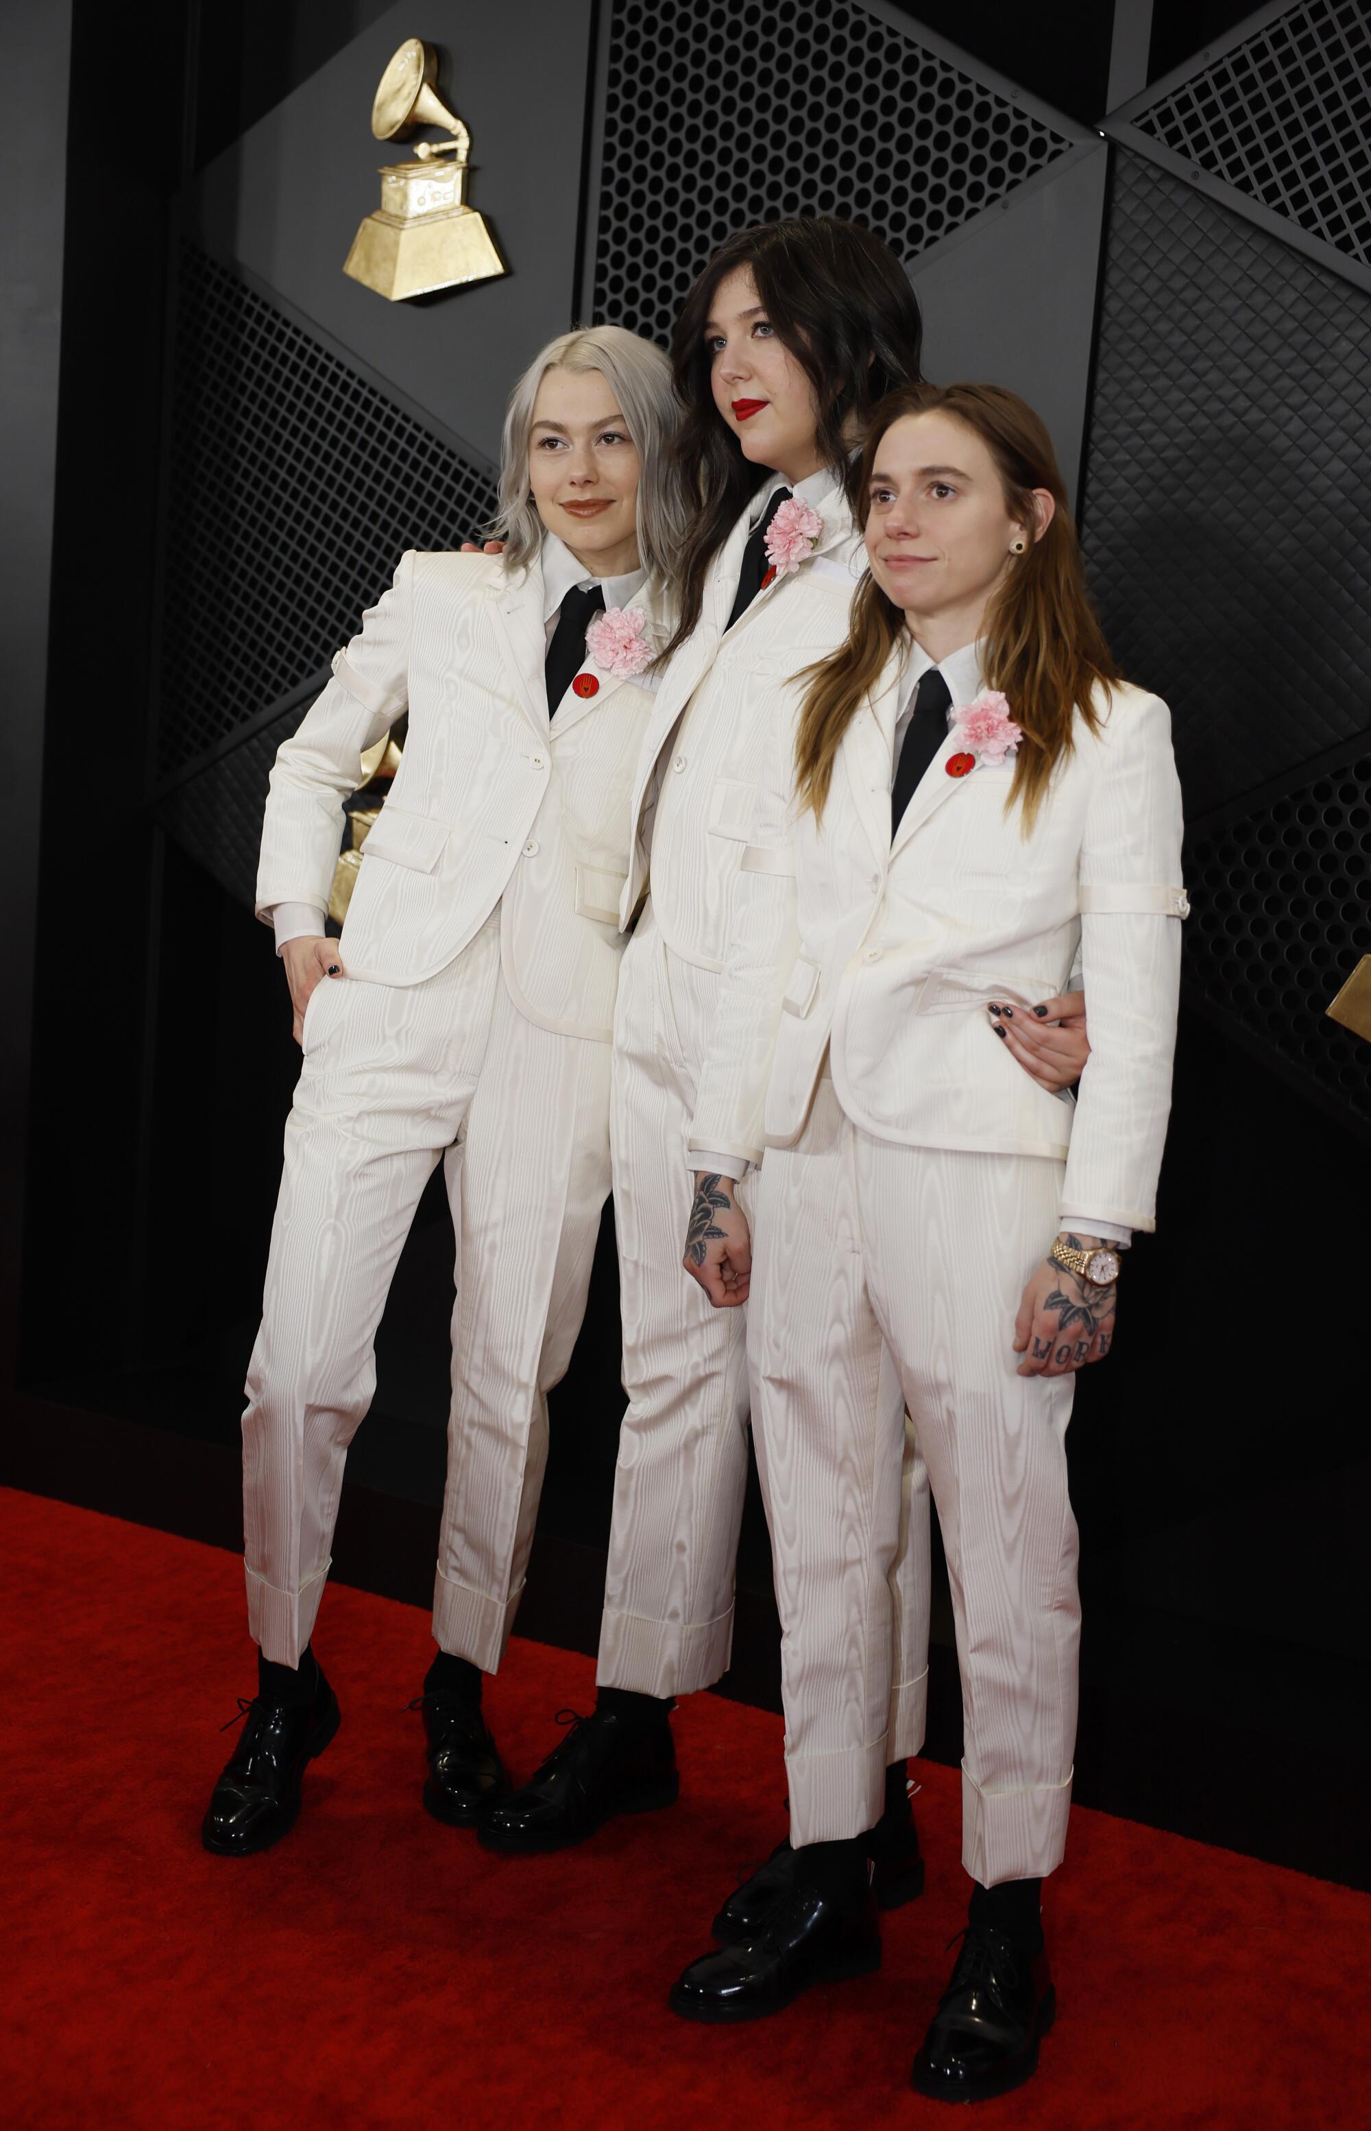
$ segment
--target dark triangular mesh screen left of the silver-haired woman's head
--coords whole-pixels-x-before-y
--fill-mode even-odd
[[[160,774],[326,667],[404,548],[447,548],[494,503],[481,471],[187,247]],[[260,827],[258,818],[253,842]]]

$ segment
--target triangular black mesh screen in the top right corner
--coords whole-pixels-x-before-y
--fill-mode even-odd
[[[1301,0],[1133,124],[1371,264],[1367,0]]]

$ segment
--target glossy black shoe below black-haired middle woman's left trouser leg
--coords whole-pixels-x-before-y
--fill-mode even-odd
[[[481,1820],[488,1850],[566,1850],[615,1813],[654,1813],[675,1805],[679,1777],[671,1724],[626,1726],[596,1709],[560,1709],[571,1730],[543,1767],[505,1805]]]

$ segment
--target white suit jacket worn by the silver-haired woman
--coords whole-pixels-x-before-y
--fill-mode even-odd
[[[660,648],[666,624],[647,588],[632,603]],[[358,757],[409,710],[404,761],[362,846],[343,927],[349,978],[417,985],[502,904],[502,967],[519,1010],[609,1042],[628,799],[651,693],[588,656],[549,722],[545,656],[539,558],[511,575],[500,556],[404,554],[277,754],[258,914],[270,923],[275,904],[328,904]]]

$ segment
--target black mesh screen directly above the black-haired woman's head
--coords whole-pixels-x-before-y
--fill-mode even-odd
[[[658,341],[749,222],[913,260],[1073,147],[858,0],[615,0],[609,40],[594,318]]]

